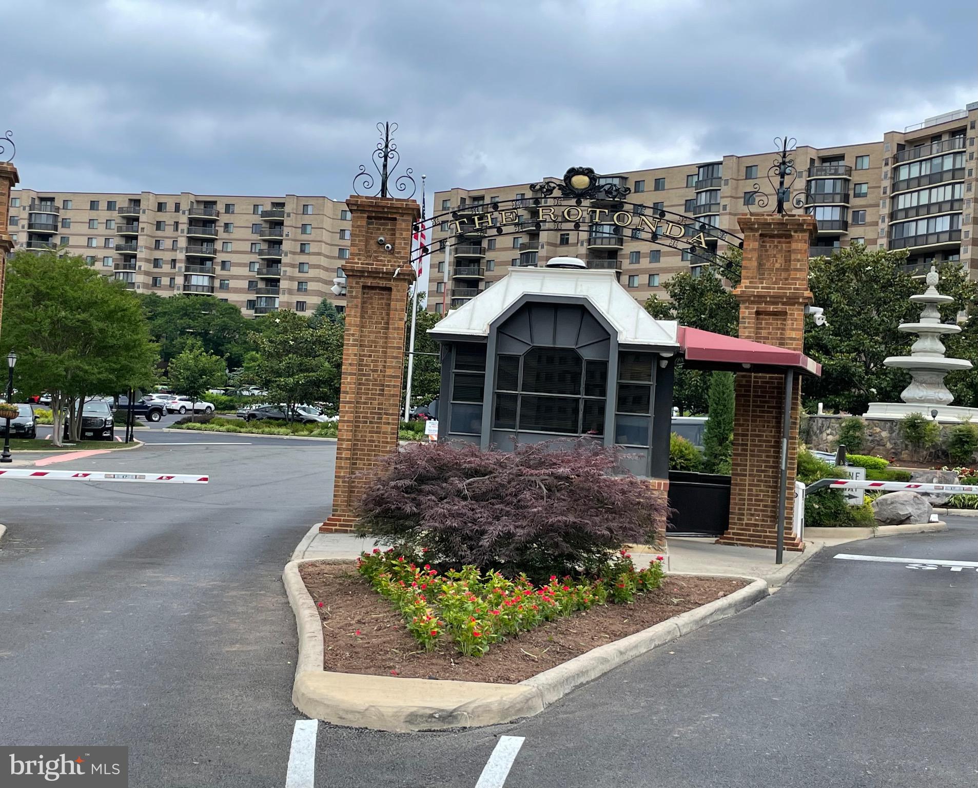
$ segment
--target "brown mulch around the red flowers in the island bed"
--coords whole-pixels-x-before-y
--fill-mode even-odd
[[[450,640],[424,651],[400,613],[351,563],[312,561],[300,564],[299,573],[323,622],[327,671],[494,683],[529,679],[747,585],[733,578],[667,577],[661,589],[639,595],[633,604],[599,605],[493,643],[484,656],[465,657]]]

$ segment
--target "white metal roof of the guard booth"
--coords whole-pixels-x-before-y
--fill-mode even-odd
[[[679,348],[679,324],[655,320],[645,312],[618,284],[615,272],[570,268],[511,268],[506,277],[450,311],[428,333],[436,339],[488,336],[490,324],[523,295],[587,298],[618,332],[619,344]]]

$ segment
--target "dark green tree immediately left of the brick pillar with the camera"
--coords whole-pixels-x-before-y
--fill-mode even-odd
[[[333,362],[337,352],[341,362],[343,342],[337,328],[325,321],[314,328],[301,315],[282,310],[263,333],[252,334],[260,356],[254,370],[258,384],[271,401],[286,407],[289,420],[301,403],[338,404],[339,372]]]

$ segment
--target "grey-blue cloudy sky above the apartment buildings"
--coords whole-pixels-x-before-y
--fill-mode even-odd
[[[342,198],[879,139],[978,100],[974,0],[5,2],[22,186]]]

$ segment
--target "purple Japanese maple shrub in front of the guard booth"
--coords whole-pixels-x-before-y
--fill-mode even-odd
[[[371,476],[359,533],[426,548],[431,563],[533,578],[578,574],[623,545],[661,537],[665,495],[623,474],[616,450],[560,447],[438,443],[395,452]]]

